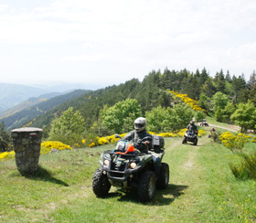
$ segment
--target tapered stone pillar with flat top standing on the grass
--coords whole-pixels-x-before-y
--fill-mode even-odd
[[[17,170],[22,175],[33,175],[38,168],[42,129],[20,128],[12,131]]]

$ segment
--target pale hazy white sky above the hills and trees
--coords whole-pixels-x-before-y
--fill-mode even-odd
[[[152,69],[249,79],[255,0],[0,0],[0,82],[105,87]]]

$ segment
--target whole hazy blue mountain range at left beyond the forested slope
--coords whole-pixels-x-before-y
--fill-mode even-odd
[[[56,88],[54,86],[36,88],[0,83],[0,122],[5,122],[5,128],[8,130],[22,127],[59,104],[91,91],[75,90],[77,87],[82,88],[82,84],[58,84],[55,86]]]

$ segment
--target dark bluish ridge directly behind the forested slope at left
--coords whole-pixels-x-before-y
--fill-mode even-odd
[[[5,117],[3,119],[0,119],[0,121],[5,122],[5,128],[8,130],[19,128],[27,124],[27,122],[32,121],[33,119],[36,119],[39,115],[48,112],[50,109],[58,106],[61,103],[64,103],[65,101],[69,101],[71,99],[79,97],[81,94],[84,94],[90,90],[74,90],[72,92],[62,94],[56,97],[53,97],[47,101],[41,101],[37,100],[37,98],[30,99],[30,101],[37,101],[36,105],[30,106],[27,109],[24,109],[19,112],[15,112],[12,115],[9,115],[8,117]],[[46,97],[48,95],[45,95]]]

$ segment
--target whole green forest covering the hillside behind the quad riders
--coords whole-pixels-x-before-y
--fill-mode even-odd
[[[255,130],[255,71],[251,73],[250,80],[245,80],[244,75],[231,77],[229,71],[224,73],[222,69],[210,77],[207,69],[197,69],[194,73],[187,69],[176,71],[167,68],[163,72],[160,69],[150,71],[142,81],[127,80],[118,86],[85,92],[61,103],[56,100],[51,109],[42,111],[36,118],[27,116],[26,122],[16,127],[43,128],[45,139],[62,140],[70,145],[84,138],[101,137],[117,131],[125,133],[133,129],[133,120],[138,116],[148,117],[155,123],[151,129],[156,132],[176,131],[186,127],[197,112],[170,90],[197,101],[204,114],[218,122],[238,124],[243,133]],[[247,117],[241,117],[245,111]],[[68,126],[64,116],[66,121],[72,118],[72,122],[77,122],[74,119],[77,117],[79,122]],[[56,126],[60,126],[59,129],[55,129]]]

